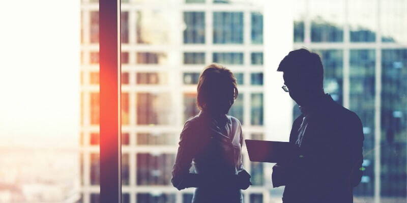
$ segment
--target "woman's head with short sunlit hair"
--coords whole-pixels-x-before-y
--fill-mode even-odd
[[[214,114],[226,114],[239,94],[235,76],[219,64],[211,64],[203,70],[197,91],[198,108]]]

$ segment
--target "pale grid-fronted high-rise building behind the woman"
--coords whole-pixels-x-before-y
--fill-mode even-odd
[[[99,202],[98,1],[82,1],[81,193]],[[123,202],[191,202],[193,188],[172,187],[184,122],[196,115],[196,84],[210,63],[238,81],[230,114],[245,138],[264,139],[263,14],[255,2],[122,1]],[[244,167],[253,186],[245,202],[268,201],[262,163]],[[270,169],[269,169],[270,171]]]

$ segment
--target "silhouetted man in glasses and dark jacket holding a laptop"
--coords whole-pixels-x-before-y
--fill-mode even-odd
[[[318,54],[290,51],[280,62],[284,86],[300,106],[289,141],[298,152],[273,167],[273,187],[285,186],[283,202],[353,202],[362,177],[362,123],[324,93]]]

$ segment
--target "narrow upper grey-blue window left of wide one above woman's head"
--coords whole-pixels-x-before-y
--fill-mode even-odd
[[[205,43],[205,12],[184,12],[184,44]]]

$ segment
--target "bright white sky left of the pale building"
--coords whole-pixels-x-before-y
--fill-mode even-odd
[[[0,147],[78,143],[79,17],[79,0],[0,2]]]

